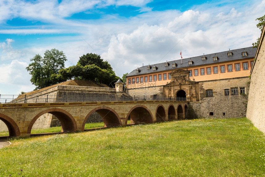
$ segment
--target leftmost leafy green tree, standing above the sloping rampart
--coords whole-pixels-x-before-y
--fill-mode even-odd
[[[46,50],[44,57],[37,54],[31,59],[31,63],[26,68],[31,74],[31,82],[36,86],[36,89],[41,89],[64,80],[59,74],[59,70],[64,68],[66,57],[63,51],[55,48]]]

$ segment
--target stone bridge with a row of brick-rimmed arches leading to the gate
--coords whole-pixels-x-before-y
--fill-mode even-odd
[[[97,112],[105,127],[126,126],[130,118],[134,124],[184,119],[188,111],[186,101],[113,101],[67,103],[6,103],[0,104],[0,120],[10,137],[30,136],[35,121],[45,113],[56,116],[62,132],[84,131],[88,117]]]

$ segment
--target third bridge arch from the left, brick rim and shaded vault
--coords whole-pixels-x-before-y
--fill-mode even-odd
[[[117,114],[116,111],[114,111],[110,107],[100,106],[100,107],[96,107],[95,109],[90,111],[88,113],[88,115],[85,117],[84,122],[82,124],[82,131],[84,131],[84,129],[85,129],[85,124],[86,124],[86,122],[88,120],[88,117],[93,112],[97,112],[102,117],[104,125],[106,127],[115,127],[115,126],[121,125],[120,116]],[[113,117],[114,117],[114,119],[113,119]]]

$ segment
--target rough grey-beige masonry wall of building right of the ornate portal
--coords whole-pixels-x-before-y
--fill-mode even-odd
[[[247,95],[249,91],[248,77],[221,79],[199,82],[201,102],[189,104],[189,118],[232,118],[244,117],[247,110]],[[240,87],[245,88],[245,94],[240,94]],[[238,95],[224,94],[224,89],[238,88]],[[213,96],[206,97],[206,90],[212,89]],[[213,115],[210,115],[213,112]]]

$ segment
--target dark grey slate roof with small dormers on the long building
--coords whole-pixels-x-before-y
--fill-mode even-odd
[[[247,47],[247,48],[239,48],[235,50],[228,50],[224,52],[219,52],[219,53],[211,53],[207,55],[201,55],[197,57],[191,57],[191,58],[184,58],[182,59],[182,64],[181,60],[174,60],[174,61],[167,61],[169,64],[168,66],[165,66],[165,63],[158,63],[154,65],[150,65],[150,70],[147,70],[147,66],[142,66],[139,69],[139,73],[136,73],[136,70],[133,70],[130,72],[126,77],[129,76],[137,76],[137,75],[142,75],[142,74],[151,74],[151,73],[157,73],[161,71],[166,71],[166,70],[176,70],[176,69],[181,69],[181,68],[186,68],[186,67],[194,67],[194,66],[200,66],[200,65],[209,65],[209,64],[214,64],[214,63],[221,63],[225,61],[234,61],[234,60],[240,60],[240,59],[247,59],[247,58],[253,58],[255,57],[257,48],[253,47]],[[228,56],[227,53],[232,52],[232,56]],[[247,56],[242,56],[242,52],[247,52]],[[213,57],[218,57],[217,61],[214,61]],[[206,57],[206,60],[202,60],[202,57]],[[189,65],[188,61],[193,61],[192,65]],[[172,67],[172,64],[176,63],[176,67]],[[156,66],[156,70],[153,70],[153,67]]]

